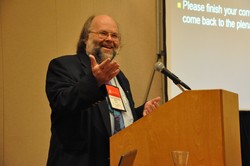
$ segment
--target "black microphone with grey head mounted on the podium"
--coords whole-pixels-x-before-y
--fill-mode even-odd
[[[164,64],[161,62],[156,62],[155,63],[155,70],[161,72],[165,76],[169,77],[175,84],[179,84],[183,86],[184,88],[191,90],[191,88],[186,85],[184,82],[182,82],[176,75],[171,73],[168,69],[165,68]]]

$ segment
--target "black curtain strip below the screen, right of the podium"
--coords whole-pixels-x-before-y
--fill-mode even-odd
[[[250,166],[250,111],[240,111],[242,166]]]

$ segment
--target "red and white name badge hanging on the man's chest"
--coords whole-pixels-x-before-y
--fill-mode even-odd
[[[120,110],[120,111],[126,111],[124,108],[124,104],[122,102],[119,88],[113,85],[106,85],[106,89],[108,92],[108,99],[109,99],[111,108]]]

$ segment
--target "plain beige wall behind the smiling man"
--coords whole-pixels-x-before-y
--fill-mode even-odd
[[[92,14],[107,13],[120,23],[123,48],[117,60],[142,104],[156,60],[155,1],[0,0],[0,12],[0,165],[45,165],[47,65],[75,52],[83,22]],[[151,97],[161,94],[160,82],[156,74]]]

